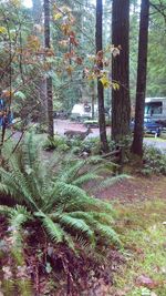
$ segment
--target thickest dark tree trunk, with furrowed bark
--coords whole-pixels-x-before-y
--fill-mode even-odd
[[[116,142],[129,133],[129,0],[113,0],[112,44],[121,45],[113,58],[112,79],[120,90],[112,90],[112,139]]]

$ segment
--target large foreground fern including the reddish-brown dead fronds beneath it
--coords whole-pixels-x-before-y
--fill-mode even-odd
[[[54,271],[53,258],[61,262],[58,269],[66,272],[73,257],[74,264],[76,257],[79,264],[82,256],[93,258],[95,254],[101,258],[111,246],[120,246],[112,228],[111,204],[89,196],[81,188],[87,181],[100,177],[96,174],[102,169],[100,157],[89,159],[89,165],[96,164],[89,173],[83,170],[84,160],[44,161],[32,134],[14,154],[7,146],[2,153],[4,159],[10,157],[0,167],[0,213],[8,217],[12,249],[19,249],[21,257],[28,245],[40,253],[44,273]],[[32,268],[32,262],[28,265]],[[74,278],[71,271],[66,274],[71,280]]]

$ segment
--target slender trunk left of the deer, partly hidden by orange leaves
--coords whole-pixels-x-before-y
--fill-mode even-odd
[[[44,41],[45,48],[51,48],[50,42],[50,0],[44,0]],[[48,133],[53,137],[53,98],[52,98],[52,78],[46,78],[48,96]]]

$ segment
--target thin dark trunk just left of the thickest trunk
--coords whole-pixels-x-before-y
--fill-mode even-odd
[[[96,53],[103,49],[102,42],[103,42],[103,1],[96,0],[96,33],[95,33]],[[102,70],[103,64],[101,64],[100,68]],[[97,99],[98,99],[98,124],[100,124],[101,146],[104,152],[107,152],[108,144],[106,139],[104,90],[100,79],[97,80]]]

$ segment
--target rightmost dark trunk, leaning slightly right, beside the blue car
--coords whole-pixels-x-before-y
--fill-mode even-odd
[[[138,41],[138,65],[137,65],[137,86],[136,86],[136,109],[135,129],[132,151],[143,155],[143,133],[144,133],[144,109],[146,93],[146,71],[147,71],[147,45],[148,45],[148,20],[149,0],[142,0],[139,41]]]

